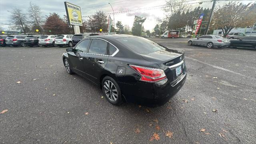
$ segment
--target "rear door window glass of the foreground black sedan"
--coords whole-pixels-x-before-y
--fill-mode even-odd
[[[104,40],[93,39],[89,48],[89,53],[107,55],[107,44],[108,43]]]

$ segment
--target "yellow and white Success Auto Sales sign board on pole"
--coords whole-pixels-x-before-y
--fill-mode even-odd
[[[70,4],[68,2],[64,2],[66,13],[68,17],[68,23],[70,25],[82,26],[82,14],[81,8],[74,4]]]

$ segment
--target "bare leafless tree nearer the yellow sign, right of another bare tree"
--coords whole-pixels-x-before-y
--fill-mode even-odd
[[[37,25],[37,27],[39,28],[38,30],[40,34],[42,34],[42,30],[41,30],[42,16],[40,16],[40,10],[41,8],[39,6],[30,2],[30,6],[28,8],[28,15],[30,16],[31,22]]]

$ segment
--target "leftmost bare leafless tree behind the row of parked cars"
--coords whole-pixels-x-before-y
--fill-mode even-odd
[[[24,32],[24,34],[26,34],[26,29],[28,26],[26,26],[26,14],[22,13],[22,10],[18,9],[18,8],[14,8],[11,11],[12,15],[11,15],[11,20],[14,23],[13,28],[15,28],[16,30],[22,30]]]

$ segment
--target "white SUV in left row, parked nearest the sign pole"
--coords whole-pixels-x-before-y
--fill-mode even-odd
[[[72,43],[72,37],[73,35],[58,35],[56,36],[55,38],[55,44],[57,44],[57,46],[73,46],[73,43]]]

